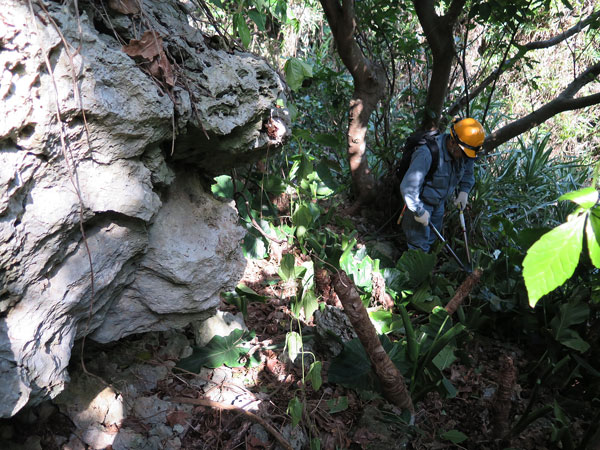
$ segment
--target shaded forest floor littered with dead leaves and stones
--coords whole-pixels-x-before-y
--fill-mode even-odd
[[[302,258],[301,255],[297,257]],[[267,297],[264,303],[252,302],[247,305],[245,324],[256,333],[251,343],[255,344],[252,351],[259,360],[253,367],[221,366],[215,369],[203,368],[199,374],[182,372],[174,369],[177,357],[173,356],[173,352],[169,356],[164,351],[164,347],[172,344],[167,335],[154,340],[147,340],[143,335],[131,336],[117,345],[90,343],[86,347],[88,369],[99,372],[104,370],[103,375],[110,377],[107,368],[113,367],[111,370],[116,372],[129,364],[117,359],[125,357],[126,351],[123,349],[140,345],[144,349],[142,364],[150,367],[150,370],[158,367],[162,371],[155,376],[155,383],[147,385],[146,392],[142,392],[140,387],[134,391],[138,396],[151,396],[155,402],[166,405],[161,411],[163,406],[159,405],[159,408],[155,403],[149,404],[146,414],[143,408],[129,408],[127,417],[123,423],[114,427],[113,432],[123,434],[127,431],[137,441],[133,438],[122,439],[121,445],[109,444],[95,448],[299,450],[311,449],[310,439],[317,436],[320,438],[320,447],[312,448],[326,450],[561,448],[553,443],[558,427],[548,414],[510,439],[496,439],[498,433],[506,432],[507,427],[513,426],[515,418],[528,407],[535,380],[528,380],[524,374],[539,355],[532,353],[530,348],[475,333],[469,334],[460,357],[445,370],[446,378],[456,388],[456,395],[453,398],[443,398],[436,392],[427,394],[415,405],[414,425],[408,425],[402,411],[381,395],[357,392],[330,383],[327,373],[332,356],[316,343],[306,348],[323,363],[323,384],[315,391],[311,383],[303,382],[302,358],[298,357],[292,362],[284,349],[286,333],[291,329],[298,330],[298,322],[293,319],[290,311],[290,299],[295,293],[295,287],[277,276],[277,259],[249,260],[244,278],[240,280],[256,293]],[[339,300],[332,290],[320,294],[321,302],[328,303],[332,308],[340,308]],[[220,310],[239,313],[235,306],[225,301]],[[309,335],[313,328],[311,320],[303,324],[302,332]],[[349,334],[350,331],[348,330]],[[185,341],[182,345],[193,345],[194,334],[191,330],[184,330],[180,334],[182,336],[185,336],[182,338]],[[139,354],[137,351],[138,356]],[[503,382],[502,377],[506,377],[501,364],[507,358],[514,366],[516,378],[510,384],[508,398],[505,398],[507,406],[502,406],[498,387]],[[313,359],[305,354],[304,360],[306,375],[308,364]],[[104,361],[116,363],[110,366]],[[74,363],[71,370],[81,372],[77,363]],[[77,378],[78,375],[71,373],[73,378]],[[577,394],[577,387],[573,387],[572,391]],[[558,389],[553,390],[548,386],[540,389],[536,402],[532,405],[533,409],[541,405],[552,405],[558,395],[556,392]],[[300,423],[292,427],[288,405],[294,397],[304,402],[305,410]],[[571,410],[568,411],[571,417],[569,429],[578,440],[581,439],[591,415],[588,408],[590,400],[577,398],[575,395],[567,402],[571,405]],[[129,401],[134,403],[135,399],[130,398]],[[150,414],[153,408],[157,408],[157,412]],[[3,425],[0,421],[0,443],[3,442],[2,433],[6,430],[10,430],[13,436],[11,445],[5,440],[0,448],[92,448],[81,444],[81,436],[77,435],[73,422],[65,419],[64,414],[50,416],[50,420],[46,418],[38,423],[28,420]],[[165,428],[165,425],[166,437],[162,441],[155,439],[153,445],[148,444],[149,441],[140,443],[141,438],[156,435],[157,427]],[[73,438],[73,433],[76,439]],[[27,444],[31,440],[25,439],[32,435],[39,437],[33,446]],[[59,435],[63,438],[57,439]]]

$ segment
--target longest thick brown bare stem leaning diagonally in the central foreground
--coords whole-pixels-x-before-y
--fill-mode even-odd
[[[345,272],[339,272],[333,277],[333,287],[344,305],[344,311],[350,319],[354,331],[367,352],[375,373],[381,380],[386,398],[394,405],[408,409],[411,414],[414,414],[414,406],[406,389],[404,377],[381,346],[354,283]]]

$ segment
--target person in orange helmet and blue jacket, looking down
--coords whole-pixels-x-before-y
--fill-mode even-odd
[[[425,179],[432,163],[432,153],[423,145],[412,155],[410,167],[400,184],[406,210],[402,230],[409,248],[428,252],[436,239],[431,222],[442,230],[444,206],[458,187],[454,204],[464,209],[475,184],[473,163],[481,150],[485,133],[481,124],[472,118],[457,120],[450,133],[436,137],[439,164],[431,179]]]

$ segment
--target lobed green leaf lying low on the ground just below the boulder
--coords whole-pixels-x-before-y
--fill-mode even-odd
[[[199,373],[202,367],[243,366],[240,357],[250,350],[244,344],[253,337],[254,333],[239,329],[233,330],[229,336],[215,336],[205,347],[194,348],[192,355],[180,360],[177,367]]]

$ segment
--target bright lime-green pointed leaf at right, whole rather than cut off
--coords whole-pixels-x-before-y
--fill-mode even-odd
[[[531,307],[575,272],[583,245],[585,216],[577,216],[549,231],[527,251],[523,278]]]

